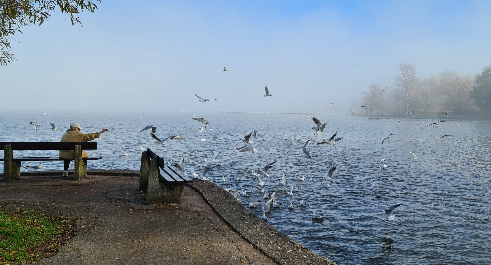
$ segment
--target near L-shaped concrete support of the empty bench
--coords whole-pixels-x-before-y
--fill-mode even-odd
[[[159,182],[159,167],[157,161],[150,160],[147,204],[177,204],[181,200],[181,194],[185,183],[161,183]]]

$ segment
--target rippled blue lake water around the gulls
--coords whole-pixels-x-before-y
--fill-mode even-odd
[[[334,148],[316,144],[321,141],[312,136],[314,123],[304,117],[205,116],[213,129],[207,129],[206,135],[198,132],[202,124],[187,116],[0,118],[0,141],[59,141],[73,121],[79,122],[85,133],[108,128],[107,137],[96,140],[98,150],[88,150],[91,156],[104,158],[89,161],[88,169],[139,170],[143,146],[152,148],[166,161],[177,161],[181,155],[189,158],[186,169],[198,172],[201,165],[215,164],[203,161],[203,151],[212,157],[222,151],[220,165],[207,178],[221,187],[244,188],[250,194],[249,199],[242,198],[245,204],[266,200],[259,194],[258,182],[241,168],[255,169],[276,160],[264,188],[277,192],[281,207],[267,213],[269,223],[340,265],[491,264],[491,152],[460,166],[470,154],[491,150],[490,123],[460,122],[463,125],[457,126],[449,121],[440,123],[438,130],[426,127],[431,121],[319,116],[323,122],[329,121],[323,139],[334,132],[343,138]],[[29,121],[42,124],[37,133]],[[60,130],[49,131],[49,122],[56,123]],[[165,148],[158,146],[148,133],[136,133],[147,124],[158,127],[160,138],[182,134],[189,141],[167,140]],[[258,153],[233,148],[242,146],[239,139],[258,128],[263,129],[252,140]],[[381,146],[390,133],[399,135],[391,136]],[[305,136],[299,140],[287,140],[301,134]],[[440,139],[435,134],[452,136]],[[211,143],[202,142],[199,136]],[[309,138],[314,159],[301,151]],[[125,159],[119,148],[132,145],[131,159]],[[409,151],[424,155],[413,159]],[[32,154],[55,157],[57,151],[14,151],[16,156]],[[382,158],[388,166],[384,171],[378,166]],[[45,164],[43,170],[62,169],[61,162]],[[323,177],[334,165],[336,183],[324,188]],[[283,172],[287,185],[281,187],[275,178]],[[233,180],[234,176],[240,176],[240,180]],[[294,196],[287,195],[290,186],[299,187]],[[306,207],[299,206],[300,199]],[[289,202],[293,202],[293,210],[287,208]],[[385,222],[381,210],[394,203],[402,206],[394,211],[394,221]],[[327,217],[314,221],[313,210]],[[260,214],[258,208],[252,211]]]

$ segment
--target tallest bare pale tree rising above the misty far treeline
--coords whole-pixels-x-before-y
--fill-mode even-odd
[[[403,97],[406,105],[406,113],[409,112],[411,99],[417,93],[417,87],[413,86],[416,81],[416,68],[414,64],[402,63],[397,67],[400,74],[394,77],[394,85],[398,88],[400,95]]]

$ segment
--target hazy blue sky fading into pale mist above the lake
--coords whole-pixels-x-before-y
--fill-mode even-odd
[[[98,7],[81,14],[83,29],[57,11],[15,36],[17,60],[0,67],[1,113],[349,113],[369,85],[393,88],[401,63],[429,76],[491,62],[489,1]],[[265,85],[273,96],[263,97]]]

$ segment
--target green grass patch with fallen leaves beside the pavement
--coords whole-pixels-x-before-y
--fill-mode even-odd
[[[27,210],[0,211],[0,265],[52,256],[72,237],[76,220]]]

